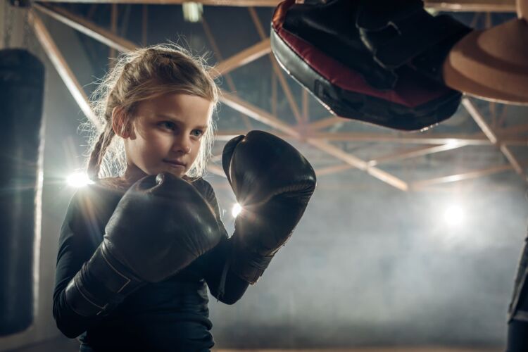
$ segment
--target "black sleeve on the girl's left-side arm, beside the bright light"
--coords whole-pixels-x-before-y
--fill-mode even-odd
[[[84,194],[77,191],[70,201],[58,239],[58,254],[55,272],[53,315],[58,329],[65,336],[74,338],[101,318],[87,318],[75,313],[65,301],[65,288],[77,274],[82,264],[92,257],[101,243],[102,234],[94,222],[87,223],[89,215],[84,211],[94,210],[93,204]]]

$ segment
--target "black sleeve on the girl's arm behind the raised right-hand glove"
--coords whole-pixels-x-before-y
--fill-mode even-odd
[[[203,180],[203,194],[215,211],[218,223],[224,232],[220,243],[201,258],[204,278],[210,293],[215,298],[222,303],[233,304],[244,295],[249,283],[240,279],[230,270],[228,259],[233,255],[232,241],[228,238],[227,231],[220,218],[220,208],[216,200],[215,191],[205,180]]]

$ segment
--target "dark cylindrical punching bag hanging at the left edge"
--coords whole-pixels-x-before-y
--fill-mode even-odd
[[[0,51],[0,336],[33,321],[35,196],[44,65]]]

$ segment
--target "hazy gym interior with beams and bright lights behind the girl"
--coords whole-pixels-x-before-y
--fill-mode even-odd
[[[76,350],[55,326],[51,296],[75,192],[68,177],[88,152],[82,100],[120,50],[168,41],[208,53],[222,73],[215,156],[231,137],[267,130],[318,175],[306,215],[256,286],[234,306],[211,299],[216,348],[503,349],[527,227],[527,107],[466,97],[452,118],[422,132],[337,118],[275,62],[268,38],[278,1],[143,2],[0,3],[2,47],[25,47],[46,69],[34,319],[0,337],[0,351]],[[515,18],[513,1],[426,4],[475,28]],[[234,196],[220,169],[213,158],[207,180],[231,233]]]

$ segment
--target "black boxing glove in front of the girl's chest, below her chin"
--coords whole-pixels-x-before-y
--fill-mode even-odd
[[[66,302],[80,315],[108,312],[146,282],[175,275],[222,237],[206,200],[169,173],[134,183],[105,232],[65,290]]]

